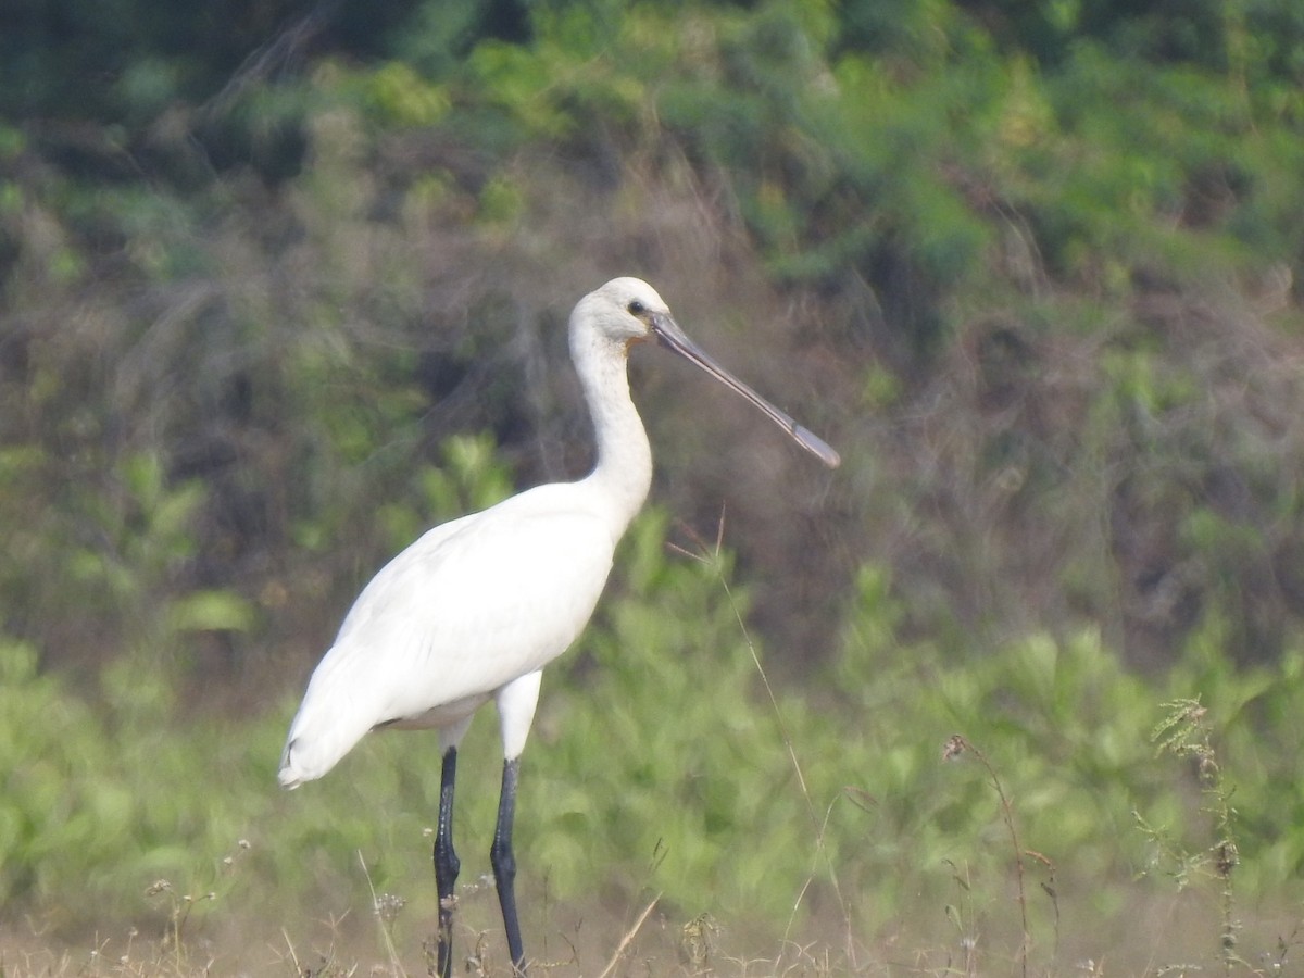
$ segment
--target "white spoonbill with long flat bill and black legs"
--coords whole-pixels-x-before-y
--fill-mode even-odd
[[[458,745],[471,715],[490,699],[498,708],[505,760],[489,858],[512,968],[526,969],[511,849],[520,752],[541,670],[588,622],[615,542],[652,482],[652,451],[630,400],[626,355],[653,336],[745,396],[824,464],[838,464],[836,451],[690,340],[656,289],[639,279],[613,279],[584,296],[570,318],[571,359],[597,437],[593,471],[436,527],[390,561],[346,615],[289,726],[280,758],[284,788],[325,775],[368,730],[439,732],[434,876],[442,978],[452,966],[460,867],[452,849]]]

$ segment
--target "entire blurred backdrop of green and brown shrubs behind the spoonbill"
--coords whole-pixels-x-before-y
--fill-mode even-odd
[[[1013,820],[1046,971],[1294,961],[1297,4],[46,8],[0,31],[0,969],[372,888],[419,957],[433,738],[291,794],[280,742],[390,554],[591,463],[565,322],[621,274],[844,466],[635,352],[656,484],[545,678],[527,930],[660,895],[735,956],[1005,966]]]

